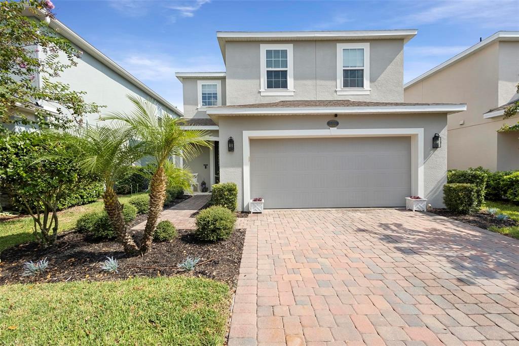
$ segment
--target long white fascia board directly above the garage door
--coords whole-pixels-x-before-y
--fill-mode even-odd
[[[258,115],[258,114],[348,114],[348,113],[458,113],[467,110],[467,104],[408,105],[379,107],[291,107],[291,108],[217,108],[208,109],[208,115]]]

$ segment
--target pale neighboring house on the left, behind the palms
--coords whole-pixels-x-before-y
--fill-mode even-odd
[[[70,28],[67,28],[63,23],[51,19],[49,25],[61,36],[68,39],[77,50],[83,52],[81,58],[76,59],[76,66],[66,69],[59,77],[51,78],[51,80],[69,84],[72,90],[85,91],[86,94],[83,97],[86,102],[95,102],[106,106],[102,108],[102,113],[132,111],[134,106],[127,99],[126,95],[134,95],[156,103],[159,116],[162,112],[183,116],[183,113],[174,105],[121,68],[121,66],[86,42]],[[39,54],[42,54],[42,52]],[[62,57],[62,59],[65,63],[66,58]],[[41,85],[43,83],[42,78],[39,75],[35,77],[34,83]],[[51,112],[59,107],[50,102],[42,102],[41,106]],[[30,116],[30,113],[27,114]],[[88,114],[84,117],[84,122],[92,125],[98,121],[98,118],[99,114]],[[19,130],[26,128],[26,126],[21,124],[16,126],[10,125],[10,127]]]

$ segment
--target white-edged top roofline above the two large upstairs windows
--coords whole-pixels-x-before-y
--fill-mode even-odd
[[[361,31],[217,31],[216,38],[225,63],[225,43],[229,41],[343,41],[350,39],[413,38],[416,29]]]

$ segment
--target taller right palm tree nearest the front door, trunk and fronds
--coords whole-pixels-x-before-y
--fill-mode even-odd
[[[112,112],[103,116],[104,120],[116,120],[126,124],[134,139],[138,141],[145,155],[153,160],[155,170],[149,183],[149,208],[146,228],[141,243],[141,251],[151,248],[153,233],[166,198],[168,183],[167,171],[181,175],[182,168],[171,168],[171,157],[186,159],[197,156],[201,147],[211,147],[208,132],[202,130],[183,130],[183,119],[170,114],[157,116],[157,105],[151,101],[131,95],[127,96],[135,109],[130,113]]]

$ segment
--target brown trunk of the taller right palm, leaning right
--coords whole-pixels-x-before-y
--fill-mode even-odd
[[[166,174],[164,172],[164,167],[159,166],[155,171],[152,180],[149,182],[148,219],[146,221],[146,228],[144,229],[144,236],[141,243],[141,252],[143,253],[152,247],[153,233],[157,227],[157,220],[164,207],[165,199]]]

